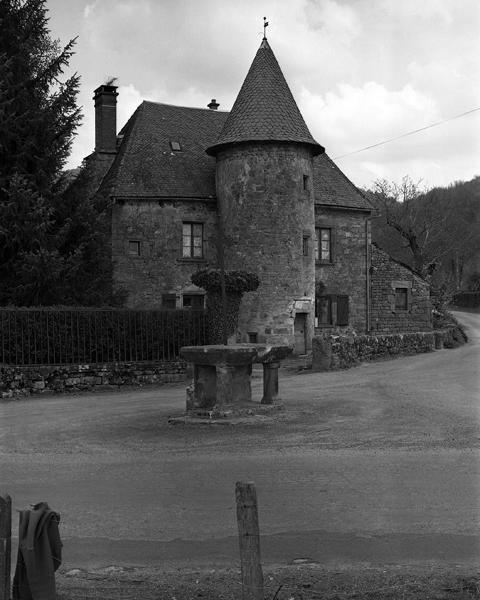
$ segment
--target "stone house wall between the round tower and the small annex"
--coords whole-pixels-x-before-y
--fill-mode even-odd
[[[342,332],[353,329],[357,333],[367,332],[368,218],[369,214],[361,211],[315,206],[315,227],[327,227],[332,231],[332,261],[317,262],[315,266],[317,289],[320,284],[321,295],[347,295],[350,315],[348,326],[318,323],[319,330]]]

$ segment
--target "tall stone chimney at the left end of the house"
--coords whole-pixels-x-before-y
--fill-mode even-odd
[[[101,85],[94,91],[95,152],[116,152],[117,86]]]

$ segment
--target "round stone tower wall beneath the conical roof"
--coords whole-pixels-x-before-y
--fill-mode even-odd
[[[260,279],[240,308],[239,341],[295,344],[294,324],[313,335],[315,267],[311,150],[246,143],[219,152],[217,198],[228,236],[226,266]],[[304,238],[308,252],[304,255]],[[297,340],[298,342],[298,340]]]

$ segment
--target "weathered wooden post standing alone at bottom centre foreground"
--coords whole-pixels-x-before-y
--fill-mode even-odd
[[[242,567],[242,600],[264,600],[257,493],[254,484],[238,481],[235,496]]]

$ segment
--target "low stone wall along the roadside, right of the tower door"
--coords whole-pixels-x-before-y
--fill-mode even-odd
[[[454,348],[466,342],[462,329],[359,336],[318,336],[313,338],[313,371],[347,369],[361,362]]]

